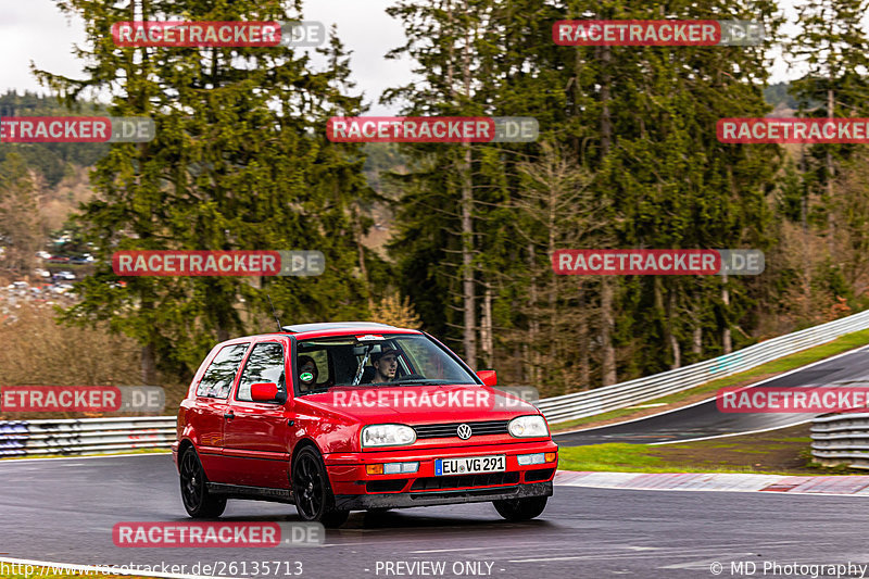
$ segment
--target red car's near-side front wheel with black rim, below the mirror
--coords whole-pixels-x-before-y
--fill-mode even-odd
[[[340,527],[349,511],[335,507],[329,476],[319,453],[305,446],[292,461],[292,496],[302,520],[322,523],[324,527]]]

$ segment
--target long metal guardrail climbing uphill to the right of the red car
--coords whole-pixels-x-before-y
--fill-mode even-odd
[[[867,328],[869,328],[869,311],[772,338],[690,366],[604,388],[543,399],[538,407],[550,424],[584,418],[695,388],[716,378],[738,374],[788,354],[829,342],[845,333]]]

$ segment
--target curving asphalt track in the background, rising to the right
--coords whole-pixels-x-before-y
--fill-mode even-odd
[[[761,382],[766,387],[869,386],[869,349],[808,366]],[[759,385],[755,385],[759,386]],[[637,421],[604,426],[554,436],[562,446],[582,446],[604,442],[654,443],[781,428],[804,423],[814,414],[731,414],[719,412],[715,400]]]

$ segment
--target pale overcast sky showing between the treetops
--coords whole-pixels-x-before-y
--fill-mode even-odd
[[[782,0],[785,14],[793,18],[795,0]],[[408,60],[386,60],[383,55],[404,43],[404,29],[398,20],[387,15],[386,8],[394,0],[305,0],[304,18],[319,21],[338,33],[347,49],[352,51],[351,68],[356,90],[371,104],[367,114],[398,113],[380,105],[380,93],[390,86],[413,80]],[[785,28],[792,32],[794,26]],[[84,43],[84,24],[56,8],[53,0],[0,0],[0,92],[16,89],[46,93],[30,73],[30,63],[39,68],[65,76],[80,77],[81,62],[72,53],[74,43]],[[782,59],[772,66],[772,81],[796,77]]]

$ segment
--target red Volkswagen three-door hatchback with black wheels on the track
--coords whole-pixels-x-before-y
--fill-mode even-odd
[[[285,326],[217,344],[178,412],[173,456],[191,517],[227,499],[350,511],[492,501],[533,518],[557,445],[533,405],[431,336],[383,324]]]

